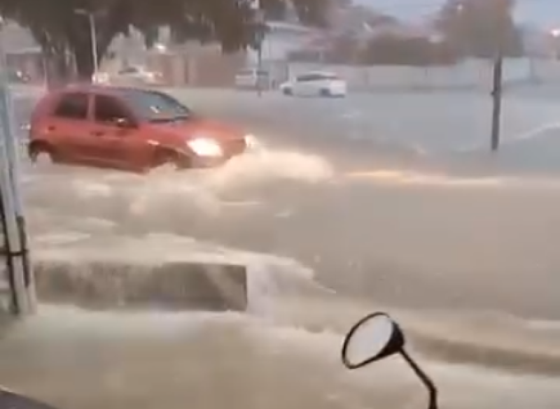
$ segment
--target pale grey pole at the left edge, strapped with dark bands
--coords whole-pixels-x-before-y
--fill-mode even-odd
[[[20,144],[2,45],[0,38],[0,200],[5,235],[2,256],[6,259],[12,311],[15,315],[29,315],[36,309],[35,285],[20,194]]]

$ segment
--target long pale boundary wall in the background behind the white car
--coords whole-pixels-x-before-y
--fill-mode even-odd
[[[342,66],[290,63],[290,77],[306,71],[337,73],[354,91],[376,89],[489,89],[493,64],[469,60],[454,66]],[[507,59],[504,63],[506,84],[524,82],[560,82],[560,62],[552,60]]]

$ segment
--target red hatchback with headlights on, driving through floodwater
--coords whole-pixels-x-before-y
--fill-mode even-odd
[[[195,115],[164,92],[104,85],[71,85],[46,95],[31,115],[29,137],[33,162],[137,172],[223,164],[252,139]]]

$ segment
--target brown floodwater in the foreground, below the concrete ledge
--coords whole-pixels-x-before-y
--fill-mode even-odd
[[[423,408],[398,359],[349,373],[342,336],[235,314],[43,307],[0,346],[4,385],[60,408]],[[558,379],[426,365],[443,408],[557,408]]]

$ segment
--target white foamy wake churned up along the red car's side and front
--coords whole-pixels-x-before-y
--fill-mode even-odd
[[[55,165],[30,172],[24,195],[31,208],[52,208],[76,217],[84,213],[111,220],[129,217],[151,226],[173,220],[181,223],[200,214],[216,217],[252,211],[262,203],[251,197],[251,189],[286,181],[318,183],[333,175],[332,167],[321,157],[267,149],[204,170],[135,175]]]

